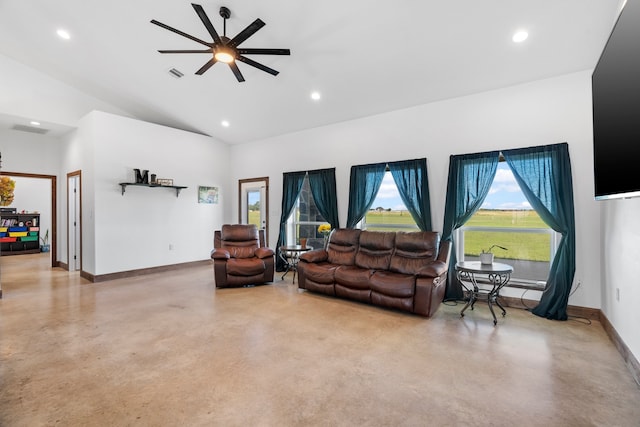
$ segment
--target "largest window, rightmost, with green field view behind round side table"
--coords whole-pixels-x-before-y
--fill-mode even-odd
[[[551,268],[560,235],[531,208],[506,162],[496,176],[481,208],[456,231],[459,260],[476,261],[492,245],[496,262],[514,267],[511,283],[541,288]]]

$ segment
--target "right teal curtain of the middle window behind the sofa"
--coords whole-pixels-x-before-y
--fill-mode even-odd
[[[427,159],[389,163],[389,170],[398,187],[400,198],[422,231],[431,231],[431,202]]]

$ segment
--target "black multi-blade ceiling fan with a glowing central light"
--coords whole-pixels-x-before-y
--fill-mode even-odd
[[[207,71],[213,64],[216,62],[224,62],[229,65],[231,71],[236,76],[239,82],[244,81],[244,77],[238,68],[238,64],[236,61],[244,62],[247,65],[251,65],[259,70],[265,71],[274,76],[278,75],[278,71],[273,68],[269,68],[266,65],[260,64],[259,62],[254,61],[253,59],[247,58],[243,55],[290,55],[291,52],[289,49],[252,49],[252,48],[241,48],[238,47],[242,42],[251,37],[256,31],[265,26],[265,23],[261,19],[256,19],[252,24],[247,26],[244,30],[240,31],[234,38],[230,39],[227,37],[227,19],[231,16],[231,11],[226,7],[222,6],[220,8],[220,16],[224,19],[224,30],[222,36],[218,35],[218,32],[213,27],[213,24],[209,20],[209,17],[205,13],[202,6],[199,4],[191,3],[193,9],[196,11],[200,20],[204,24],[209,34],[213,38],[212,42],[206,42],[204,40],[200,40],[197,37],[194,37],[190,34],[187,34],[183,31],[177,30],[173,27],[170,27],[162,22],[158,22],[155,19],[151,20],[152,24],[155,24],[159,27],[162,27],[166,30],[173,31],[176,34],[179,34],[183,37],[186,37],[190,40],[198,42],[202,45],[207,46],[207,49],[190,49],[190,50],[158,50],[160,53],[209,53],[212,55],[211,59],[209,59],[198,71],[196,74],[202,75],[205,71]]]

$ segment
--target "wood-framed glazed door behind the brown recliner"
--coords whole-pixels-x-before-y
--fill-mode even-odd
[[[265,230],[269,244],[269,178],[251,178],[238,181],[240,224],[255,224]]]

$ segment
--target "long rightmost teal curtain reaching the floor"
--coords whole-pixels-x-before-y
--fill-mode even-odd
[[[575,215],[569,146],[566,143],[502,152],[531,206],[562,234],[547,286],[533,313],[567,320],[567,304],[576,270]]]

